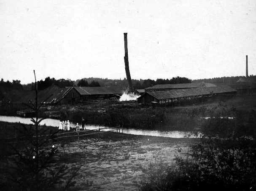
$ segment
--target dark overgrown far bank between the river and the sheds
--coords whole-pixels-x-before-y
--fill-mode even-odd
[[[235,111],[240,111],[245,117],[251,115],[255,110],[255,100],[256,94],[219,95],[205,99],[204,103],[152,108],[143,107],[136,101],[99,99],[77,105],[44,106],[39,116],[70,120],[75,124],[81,123],[81,118],[84,118],[86,124],[110,127],[121,125],[124,128],[193,131],[204,123],[201,118],[213,116],[224,107],[224,114],[229,117]]]

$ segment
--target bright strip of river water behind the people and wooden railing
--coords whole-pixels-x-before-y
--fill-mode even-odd
[[[0,121],[11,122],[11,123],[24,123],[24,124],[33,124],[31,118],[21,118],[16,116],[4,116],[0,115]],[[70,128],[75,128],[76,123],[70,122]],[[58,129],[59,120],[47,118],[40,122],[40,125],[52,126]],[[79,124],[81,125],[81,124]],[[81,128],[81,127],[80,127]],[[85,125],[85,128],[88,130],[96,128],[106,128],[106,126],[97,126],[97,125]],[[102,129],[103,130],[103,129]],[[108,131],[106,129],[105,131]],[[104,130],[103,130],[104,131]],[[194,134],[188,131],[159,131],[159,130],[145,130],[145,129],[135,129],[135,128],[123,128],[123,133],[133,134],[133,135],[146,135],[146,136],[161,136],[161,137],[171,137],[171,138],[183,138],[191,134],[191,138],[194,138]]]

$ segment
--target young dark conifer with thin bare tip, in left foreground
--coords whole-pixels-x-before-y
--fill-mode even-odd
[[[74,186],[75,181],[72,180],[78,168],[70,170],[67,165],[57,165],[58,150],[50,144],[57,132],[38,126],[44,118],[38,118],[38,111],[43,104],[38,106],[37,88],[35,102],[30,101],[30,104],[25,105],[35,111],[35,119],[31,118],[34,124],[29,128],[24,125],[22,129],[16,128],[20,133],[20,144],[19,147],[12,147],[15,154],[14,170],[11,173],[13,188],[19,191],[67,190]]]

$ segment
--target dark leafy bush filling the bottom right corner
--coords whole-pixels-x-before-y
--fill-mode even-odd
[[[233,110],[234,119],[221,118],[229,111],[221,104],[216,110],[189,157],[175,157],[164,176],[163,168],[151,173],[141,191],[256,190],[256,116]]]

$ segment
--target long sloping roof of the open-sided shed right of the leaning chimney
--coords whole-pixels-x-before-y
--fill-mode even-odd
[[[189,89],[175,89],[170,91],[147,92],[147,94],[150,94],[156,99],[171,99],[171,98],[181,98],[181,97],[218,94],[218,93],[236,92],[236,91],[237,90],[232,89],[229,86],[214,86],[214,87],[205,87],[205,88],[189,88]]]

